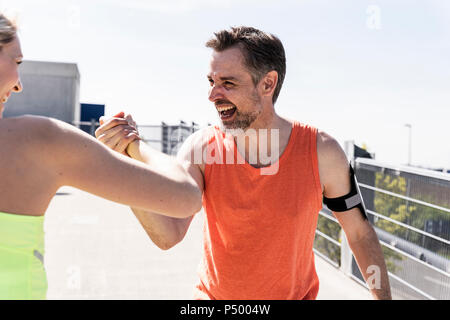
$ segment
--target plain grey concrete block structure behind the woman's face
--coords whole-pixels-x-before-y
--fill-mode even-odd
[[[13,93],[4,117],[24,114],[80,120],[80,73],[73,63],[24,61],[20,66],[21,93]]]

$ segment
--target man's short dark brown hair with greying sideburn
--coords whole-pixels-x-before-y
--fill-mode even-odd
[[[275,70],[278,73],[278,82],[272,97],[275,104],[286,75],[286,56],[280,39],[252,27],[240,26],[215,32],[214,37],[206,42],[207,48],[218,52],[235,46],[241,49],[245,66],[255,86],[268,72]]]

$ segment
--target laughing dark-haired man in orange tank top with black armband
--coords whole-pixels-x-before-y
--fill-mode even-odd
[[[364,278],[378,271],[373,297],[390,299],[381,247],[363,206],[355,202],[342,210],[342,199],[359,196],[344,152],[325,132],[275,111],[286,72],[281,41],[237,27],[215,33],[206,46],[213,49],[209,100],[221,126],[192,134],[177,156],[203,192],[206,221],[195,298],[315,299],[312,249],[325,197],[337,210],[333,214]],[[97,138],[118,152],[164,165],[139,142],[126,149],[122,137],[133,126],[118,121],[106,121]],[[180,242],[192,221],[133,211],[162,249]]]

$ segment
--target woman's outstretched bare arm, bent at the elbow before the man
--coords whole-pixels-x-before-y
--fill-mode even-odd
[[[201,209],[201,191],[175,159],[157,170],[111,151],[90,135],[55,119],[33,117],[40,160],[58,173],[57,183],[169,217]]]

